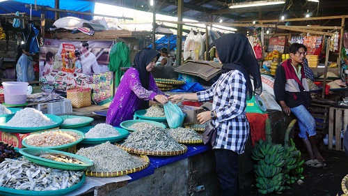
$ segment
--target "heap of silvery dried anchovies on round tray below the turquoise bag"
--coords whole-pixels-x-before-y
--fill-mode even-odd
[[[181,151],[184,146],[174,140],[163,128],[141,129],[131,133],[122,146],[147,151]]]

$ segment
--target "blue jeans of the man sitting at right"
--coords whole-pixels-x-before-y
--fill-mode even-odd
[[[317,134],[315,131],[315,128],[317,128],[315,125],[315,119],[313,118],[312,114],[308,112],[306,107],[299,105],[297,107],[290,108],[290,111],[297,117],[297,121],[299,122],[299,137],[308,139],[307,133],[309,136]]]

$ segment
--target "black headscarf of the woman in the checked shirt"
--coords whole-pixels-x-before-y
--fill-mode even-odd
[[[228,33],[214,40],[214,45],[223,64],[221,73],[227,73],[230,70],[242,72],[246,80],[246,97],[250,100],[253,96],[250,75],[253,77],[255,89],[261,88],[262,85],[260,66],[248,38],[242,33]]]

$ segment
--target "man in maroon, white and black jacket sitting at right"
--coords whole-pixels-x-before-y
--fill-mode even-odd
[[[306,51],[307,48],[303,44],[290,45],[290,59],[281,63],[276,70],[274,95],[283,112],[286,115],[294,114],[299,122],[299,137],[305,144],[310,158],[306,165],[324,167],[326,164],[315,140],[315,119],[308,112],[312,98],[302,64],[306,58]]]

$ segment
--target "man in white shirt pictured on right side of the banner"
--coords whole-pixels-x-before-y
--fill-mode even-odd
[[[82,73],[85,75],[93,76],[93,73],[100,73],[100,68],[97,63],[97,58],[92,52],[88,50],[88,43],[81,43],[81,65],[82,65]]]

